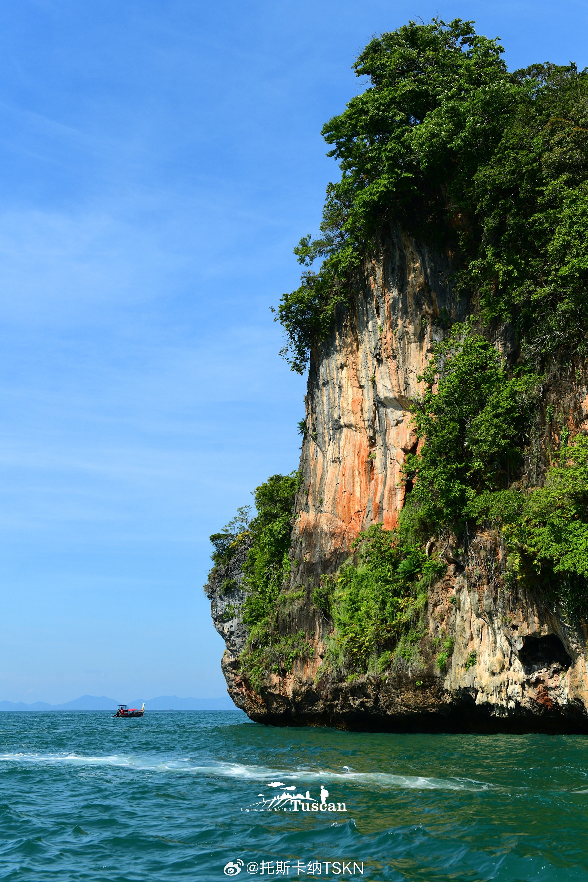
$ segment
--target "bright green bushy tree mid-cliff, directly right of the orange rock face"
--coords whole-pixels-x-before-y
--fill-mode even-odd
[[[536,403],[536,377],[510,376],[495,348],[470,325],[454,325],[435,346],[413,402],[418,453],[406,457],[411,510],[429,534],[463,529],[468,518],[502,512],[517,475]]]

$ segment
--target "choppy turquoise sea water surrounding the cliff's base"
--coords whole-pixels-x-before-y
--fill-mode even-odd
[[[0,878],[587,880],[587,757],[582,736],[3,713]],[[259,811],[285,793],[298,811]]]

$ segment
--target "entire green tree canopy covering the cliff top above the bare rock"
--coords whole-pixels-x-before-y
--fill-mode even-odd
[[[482,318],[515,322],[536,362],[585,348],[588,71],[510,73],[502,51],[471,21],[433,19],[358,57],[371,85],[324,125],[342,175],[327,187],[321,234],[294,249],[301,286],[279,305],[293,370],[361,288],[361,263],[393,221],[450,244]]]

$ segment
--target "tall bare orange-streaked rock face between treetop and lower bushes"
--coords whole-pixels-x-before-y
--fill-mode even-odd
[[[448,319],[467,315],[450,287],[450,258],[399,230],[366,269],[369,287],[311,355],[293,535],[301,582],[336,569],[370,524],[396,526],[400,467],[416,449],[407,408],[417,377]]]

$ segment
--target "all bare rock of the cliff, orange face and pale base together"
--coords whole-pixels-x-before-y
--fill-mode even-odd
[[[400,469],[416,449],[410,399],[433,344],[469,303],[451,286],[450,255],[414,243],[396,229],[366,267],[368,285],[341,313],[328,339],[311,354],[307,427],[301,453],[303,485],[295,505],[292,587],[334,572],[356,535],[370,524],[398,522],[405,488]],[[495,346],[517,357],[512,329],[495,329]],[[552,378],[551,401],[585,427],[588,398],[565,377]],[[416,676],[322,682],[320,664],[331,624],[302,610],[299,624],[315,647],[312,659],[274,675],[261,694],[238,673],[246,639],[238,608],[240,549],[207,592],[212,617],[227,642],[223,671],[235,704],[252,720],[277,725],[327,725],[389,731],[588,732],[588,632],[562,621],[539,597],[502,579],[504,549],[493,534],[470,536],[428,597],[428,631],[455,639],[444,674],[432,655]],[[222,568],[221,568],[222,569]],[[229,609],[230,608],[230,609]],[[227,611],[228,610],[228,611]]]

